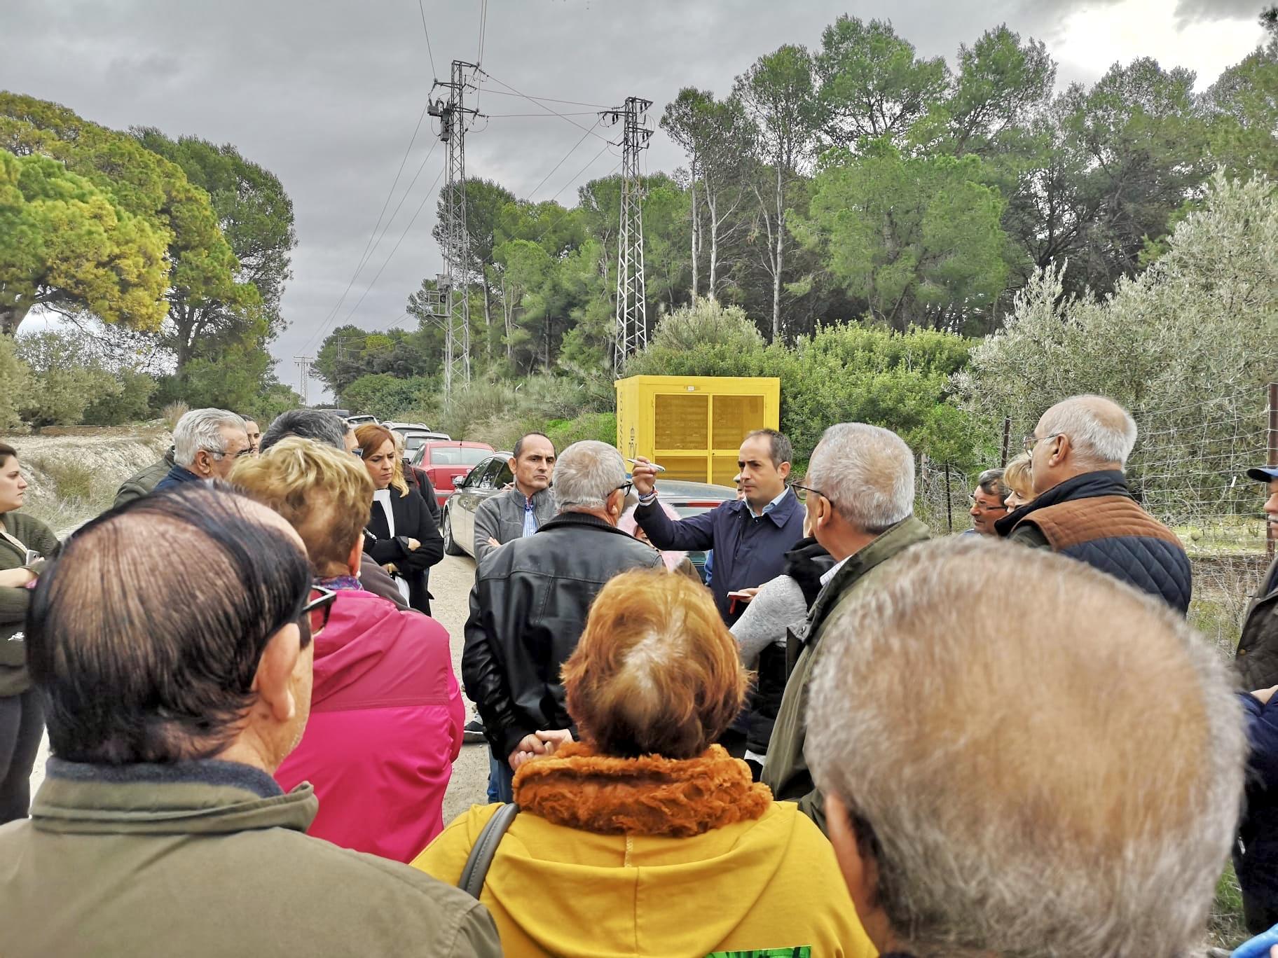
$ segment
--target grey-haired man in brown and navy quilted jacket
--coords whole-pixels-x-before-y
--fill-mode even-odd
[[[1123,476],[1136,423],[1104,396],[1057,402],[1025,437],[1034,502],[999,519],[1012,542],[1052,549],[1159,597],[1181,614],[1194,579],[1176,533],[1132,498]]]

